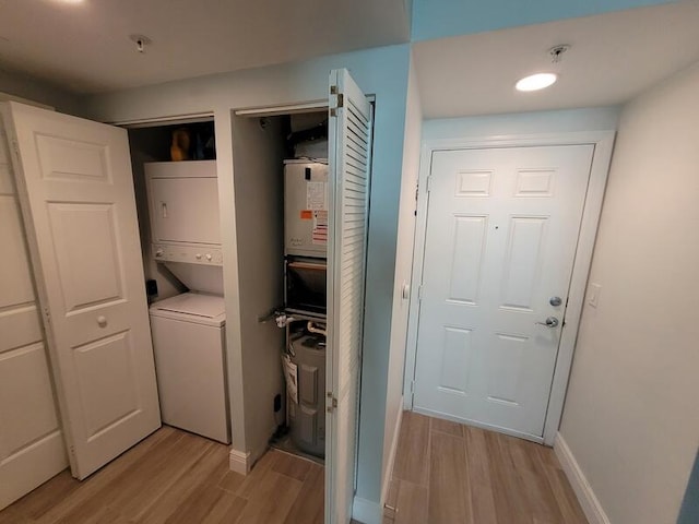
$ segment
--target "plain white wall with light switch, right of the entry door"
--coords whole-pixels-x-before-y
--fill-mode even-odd
[[[623,111],[560,433],[612,524],[674,523],[699,442],[699,64]]]

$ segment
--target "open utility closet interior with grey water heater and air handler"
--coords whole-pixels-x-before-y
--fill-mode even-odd
[[[254,368],[244,380],[265,378],[246,410],[266,413],[265,446],[323,464],[328,107],[232,118],[240,303],[254,312],[241,315],[244,360]]]

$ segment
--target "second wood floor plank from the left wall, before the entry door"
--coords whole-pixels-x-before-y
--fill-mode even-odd
[[[429,464],[428,522],[430,524],[471,522],[463,439],[435,431],[431,434]]]

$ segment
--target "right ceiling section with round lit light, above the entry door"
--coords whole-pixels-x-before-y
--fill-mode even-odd
[[[557,68],[548,49],[569,44]],[[413,47],[425,118],[625,103],[699,60],[699,1],[420,41]],[[521,76],[558,69],[553,87]],[[699,95],[698,95],[699,96]]]

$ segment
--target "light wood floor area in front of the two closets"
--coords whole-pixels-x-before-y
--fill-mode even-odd
[[[63,472],[0,524],[321,524],[323,467],[270,451],[248,476],[228,448],[164,427],[79,483]]]

